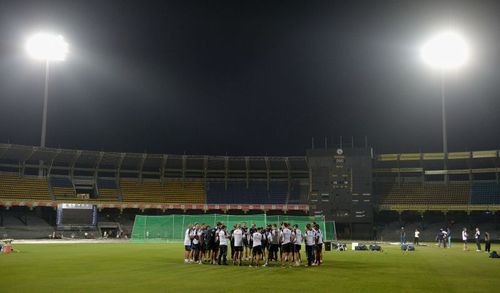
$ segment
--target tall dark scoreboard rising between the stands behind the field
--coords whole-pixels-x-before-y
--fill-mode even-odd
[[[368,148],[311,149],[309,205],[314,215],[336,224],[348,224],[351,232],[371,229],[372,155]]]

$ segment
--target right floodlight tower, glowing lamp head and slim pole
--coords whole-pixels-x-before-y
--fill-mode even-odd
[[[421,48],[423,61],[437,69],[441,76],[442,124],[444,169],[447,170],[448,137],[446,134],[446,73],[463,67],[469,60],[469,47],[465,39],[455,31],[446,30],[434,35]],[[445,174],[445,181],[448,175]]]

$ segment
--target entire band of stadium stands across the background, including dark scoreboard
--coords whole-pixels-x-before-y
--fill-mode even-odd
[[[369,238],[384,213],[399,220],[427,212],[495,216],[499,163],[498,150],[375,154],[365,146],[203,156],[0,144],[0,226],[13,209],[37,211],[60,229],[96,226],[103,211],[264,212],[324,216],[345,238]]]

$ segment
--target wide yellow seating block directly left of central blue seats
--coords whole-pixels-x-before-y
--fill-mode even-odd
[[[205,203],[205,188],[201,181],[165,181],[122,179],[123,201],[154,203]]]

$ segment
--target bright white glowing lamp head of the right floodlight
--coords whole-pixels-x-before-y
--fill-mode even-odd
[[[458,33],[445,31],[425,43],[420,54],[429,66],[440,70],[451,70],[467,63],[469,47]]]

